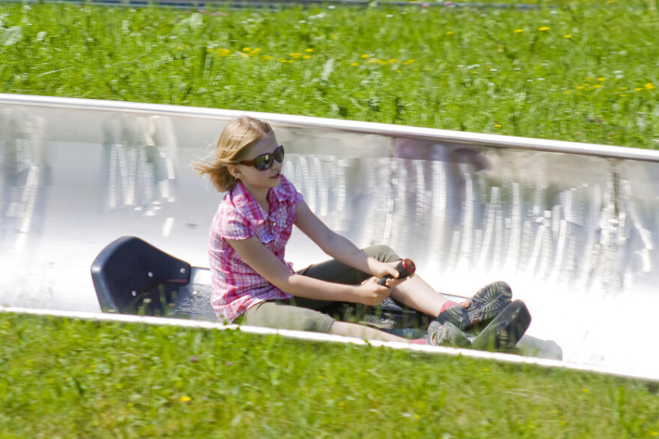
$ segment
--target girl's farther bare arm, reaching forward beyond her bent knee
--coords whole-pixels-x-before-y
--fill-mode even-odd
[[[398,271],[395,268],[397,262],[387,264],[367,256],[348,238],[335,233],[326,226],[304,201],[297,205],[295,214],[297,215],[295,225],[332,258],[378,278],[387,274],[394,278],[398,277]]]

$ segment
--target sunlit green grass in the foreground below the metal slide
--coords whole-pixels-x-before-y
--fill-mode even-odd
[[[656,386],[238,331],[0,314],[2,438],[644,438]]]

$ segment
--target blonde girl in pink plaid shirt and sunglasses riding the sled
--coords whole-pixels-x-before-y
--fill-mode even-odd
[[[506,283],[493,283],[461,304],[448,301],[420,276],[398,279],[399,258],[385,246],[363,251],[314,215],[282,174],[284,148],[269,123],[242,116],[220,135],[213,163],[197,163],[220,192],[209,235],[211,305],[220,321],[328,332],[362,339],[405,341],[357,323],[336,321],[322,311],[336,302],[376,306],[394,300],[430,316],[428,339],[417,343],[468,346],[462,333],[493,318],[511,301]],[[297,226],[334,258],[296,272],[285,245]],[[378,285],[383,276],[386,284]]]

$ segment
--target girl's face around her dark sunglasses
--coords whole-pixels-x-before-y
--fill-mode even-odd
[[[278,146],[274,134],[270,133],[252,143],[252,146],[249,148],[249,156],[245,160],[256,159],[256,156],[260,156],[261,154],[273,154]],[[279,185],[279,181],[281,180],[281,165],[282,163],[274,160],[270,168],[261,171],[254,166],[239,164],[236,165],[236,174],[234,174],[234,177],[243,181],[245,188],[249,192],[252,192],[253,195],[263,190],[267,193],[267,189]]]

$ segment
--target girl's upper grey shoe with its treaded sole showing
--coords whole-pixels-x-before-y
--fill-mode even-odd
[[[493,319],[510,303],[512,296],[513,292],[507,283],[491,283],[469,299],[468,307],[453,305],[439,314],[437,321],[440,325],[453,323],[464,330],[475,323]]]

